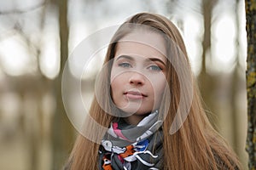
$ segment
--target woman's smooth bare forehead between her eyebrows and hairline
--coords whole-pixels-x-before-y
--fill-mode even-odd
[[[115,56],[120,54],[160,57],[166,60],[165,40],[160,34],[153,31],[131,32],[117,43]]]

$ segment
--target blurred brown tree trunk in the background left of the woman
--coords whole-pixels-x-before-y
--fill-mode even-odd
[[[68,120],[61,97],[61,76],[68,56],[68,35],[69,28],[67,23],[67,0],[56,0],[59,12],[60,26],[60,50],[61,66],[60,74],[55,79],[55,98],[56,111],[53,120],[52,142],[53,142],[53,169],[61,169],[67,160],[68,150],[73,142],[73,127]]]

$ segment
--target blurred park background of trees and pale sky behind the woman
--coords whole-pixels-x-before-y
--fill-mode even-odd
[[[61,100],[68,55],[95,31],[143,11],[165,15],[182,32],[208,116],[247,169],[244,6],[243,0],[0,1],[0,169],[61,169],[77,133]],[[81,65],[69,63],[89,103],[99,63],[92,61],[84,77]],[[73,111],[83,111],[79,96],[68,95]]]

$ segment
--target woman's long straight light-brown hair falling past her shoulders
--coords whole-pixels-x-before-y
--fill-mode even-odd
[[[178,50],[181,50],[185,57],[185,63],[179,63],[179,65],[188,68],[189,59],[186,52],[183,38],[181,37],[177,27],[166,17],[159,14],[140,13],[133,15],[124,24],[140,24],[144,26],[153,27],[154,29],[164,33],[167,37],[171,38],[176,43],[177,47],[166,42],[167,57],[180,57]],[[108,46],[108,52],[106,54],[105,63],[113,59],[115,54],[117,42],[121,37],[124,37],[130,30],[122,29],[116,31],[111,43]],[[178,50],[177,50],[178,48]],[[175,65],[175,63],[172,63]],[[198,92],[195,80],[192,78],[192,105],[189,110],[189,114],[183,122],[183,126],[180,127],[176,133],[172,135],[169,133],[172,122],[174,120],[177,108],[179,105],[180,96],[180,84],[177,77],[177,72],[174,67],[169,65],[167,70],[166,80],[169,83],[169,88],[172,102],[163,100],[161,104],[161,111],[164,111],[166,118],[163,122],[163,149],[164,169],[241,169],[240,162],[237,160],[236,155],[230,149],[230,147],[224,142],[219,134],[213,129],[211,123],[208,121],[206,113],[201,105],[201,96]],[[192,71],[190,68],[189,74],[192,77]],[[104,72],[102,76],[102,96],[104,101],[98,101],[96,97],[90,106],[90,116],[103,127],[109,127],[110,122],[113,121],[114,116],[106,113],[102,109],[99,102],[103,102],[106,107],[111,108],[111,93],[108,87],[110,87],[109,74],[111,71],[111,65]],[[188,92],[189,93],[189,92]],[[191,92],[190,92],[191,93]],[[93,132],[96,128],[92,122],[86,122],[84,124],[87,129]],[[102,138],[100,135],[98,138]],[[80,134],[74,144],[73,151],[67,161],[66,169],[72,170],[89,170],[98,169],[98,150],[99,144],[90,141]]]

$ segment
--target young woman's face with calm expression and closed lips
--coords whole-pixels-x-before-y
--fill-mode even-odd
[[[113,103],[143,116],[160,107],[166,86],[164,39],[150,31],[132,32],[117,44],[111,71]]]

